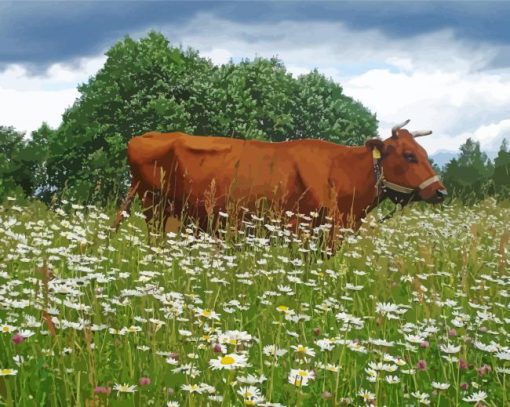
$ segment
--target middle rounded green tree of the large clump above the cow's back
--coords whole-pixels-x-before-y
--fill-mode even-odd
[[[292,133],[296,81],[278,59],[222,65],[212,88],[202,134],[282,141]]]

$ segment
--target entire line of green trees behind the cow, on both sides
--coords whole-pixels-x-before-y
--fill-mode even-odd
[[[24,137],[0,126],[0,201],[13,194],[118,201],[129,183],[127,142],[151,130],[344,145],[377,133],[376,116],[339,84],[317,70],[294,78],[277,58],[216,66],[155,32],[126,37],[106,56],[57,129],[43,123]],[[462,148],[443,174],[449,189],[466,198],[508,194],[508,146],[494,163],[472,141]]]

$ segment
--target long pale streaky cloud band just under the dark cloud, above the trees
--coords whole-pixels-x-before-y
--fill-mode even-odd
[[[162,31],[172,43],[202,52],[219,48],[242,58],[277,55],[287,65],[335,67],[340,74],[361,73],[374,65],[466,71],[483,67],[498,55],[498,49],[460,41],[450,30],[391,38],[376,29],[357,31],[332,21],[237,23],[204,13],[179,29],[172,25]]]

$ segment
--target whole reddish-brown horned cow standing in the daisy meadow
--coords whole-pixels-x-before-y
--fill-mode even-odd
[[[132,184],[115,220],[136,193],[149,222],[159,207],[167,218],[186,215],[205,228],[210,215],[233,206],[257,208],[265,199],[281,210],[328,214],[339,227],[356,229],[385,198],[406,204],[441,202],[446,189],[415,137],[395,126],[387,140],[346,147],[320,140],[281,143],[184,133],[150,132],[128,145]]]

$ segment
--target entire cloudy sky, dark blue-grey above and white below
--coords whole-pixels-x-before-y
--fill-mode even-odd
[[[59,125],[104,52],[125,35],[163,32],[221,64],[278,56],[295,75],[318,68],[377,114],[432,129],[429,153],[467,137],[510,141],[510,2],[0,2],[0,125]]]

